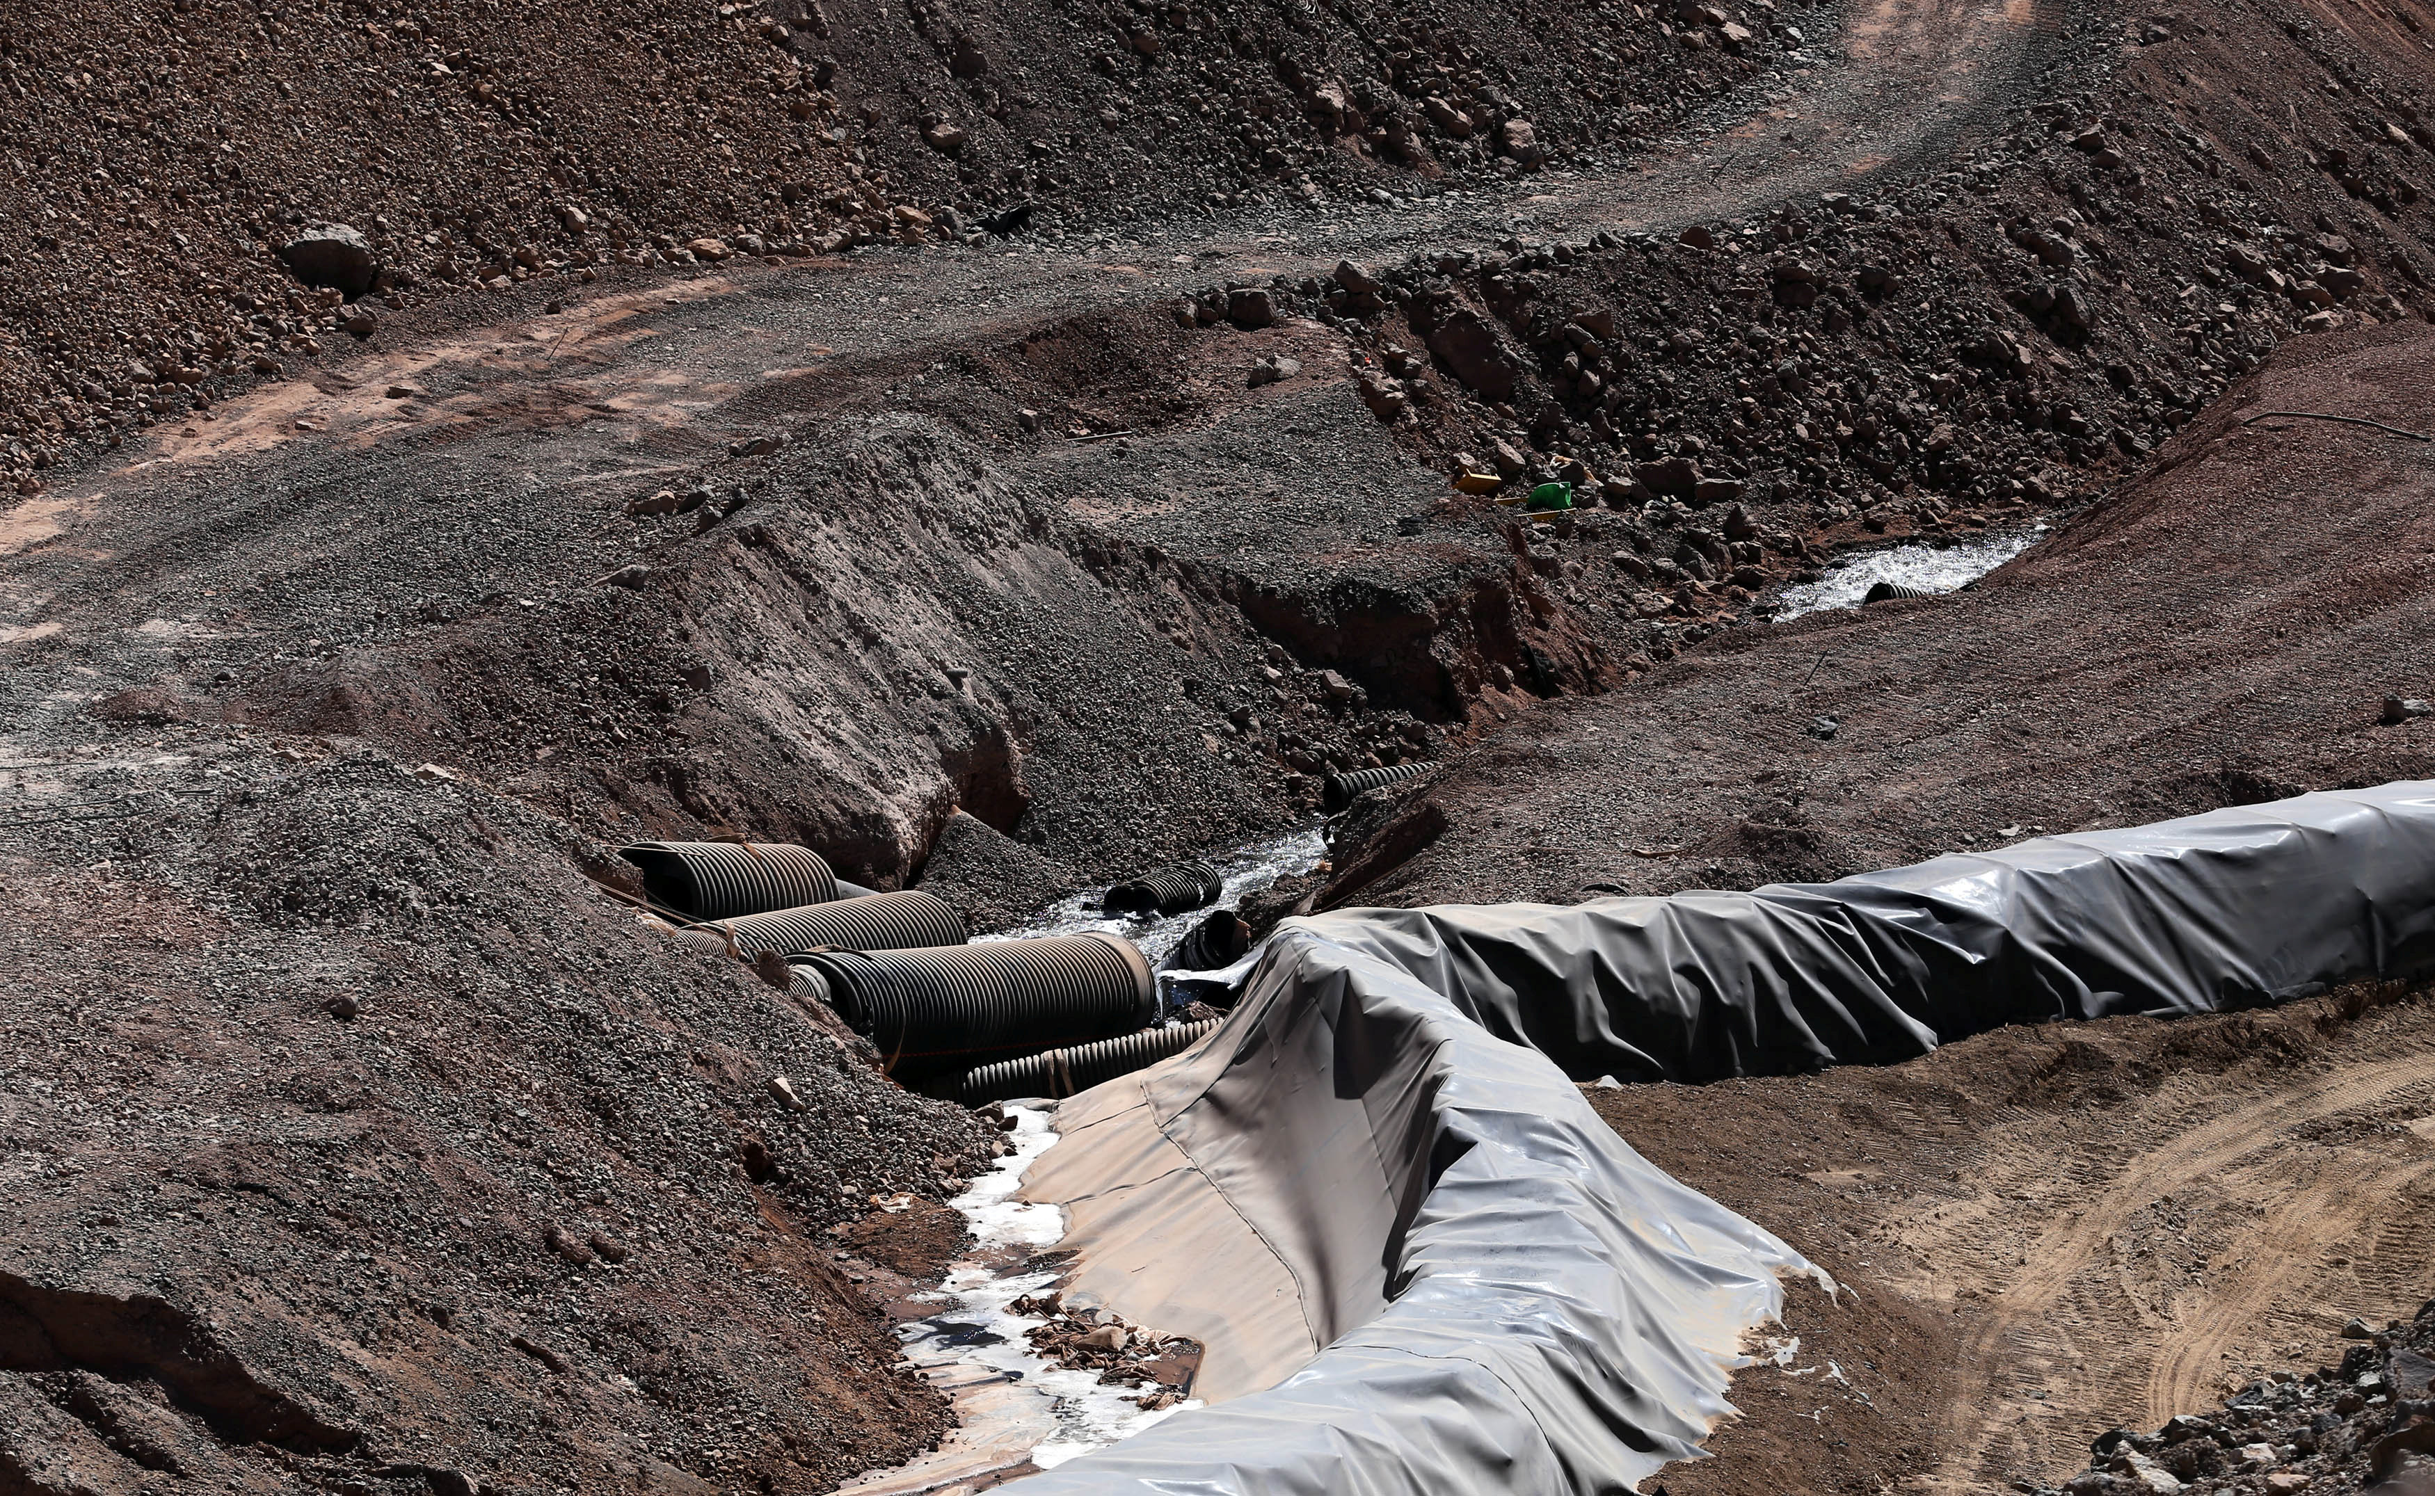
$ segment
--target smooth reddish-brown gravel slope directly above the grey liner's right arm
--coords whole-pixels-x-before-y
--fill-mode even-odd
[[[2430,343],[2403,324],[2286,345],[2162,472],[1970,591],[1746,628],[1541,710],[1422,793],[1434,842],[1327,900],[1826,878],[2428,776],[2428,722],[2379,715],[2428,691],[2430,448],[2243,416],[2425,428]]]

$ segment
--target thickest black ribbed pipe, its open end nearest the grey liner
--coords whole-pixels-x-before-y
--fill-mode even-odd
[[[901,1080],[1115,1039],[1159,1012],[1149,961],[1096,929],[928,951],[806,951],[789,966],[796,990],[835,1007]]]

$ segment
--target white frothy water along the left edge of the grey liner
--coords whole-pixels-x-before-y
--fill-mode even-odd
[[[1064,1236],[1064,1211],[1054,1204],[1025,1204],[1015,1199],[1015,1190],[1057,1134],[1047,1112],[1008,1107],[1006,1114],[1015,1119],[1015,1131],[1008,1134],[1013,1153],[950,1202],[972,1226],[972,1260],[957,1262],[937,1292],[918,1294],[940,1299],[947,1309],[896,1333],[903,1338],[906,1360],[918,1367],[962,1362],[1040,1391],[1032,1464],[1054,1469],[1200,1404],[1183,1401],[1152,1413],[1132,1401],[1142,1394],[1140,1387],[1108,1384],[1032,1352],[1023,1333],[1047,1323],[1047,1316],[1015,1314],[1011,1304],[1057,1287],[1054,1272],[1023,1272],[1020,1265],[1057,1245]],[[1008,1265],[1018,1270],[1008,1272]]]

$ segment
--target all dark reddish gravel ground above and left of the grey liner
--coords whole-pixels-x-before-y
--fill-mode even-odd
[[[996,1136],[626,837],[1008,927],[1407,759],[1330,902],[2423,774],[2418,448],[2218,404],[2430,426],[2420,75],[2304,5],[12,24],[0,1486],[935,1440],[884,1326]]]

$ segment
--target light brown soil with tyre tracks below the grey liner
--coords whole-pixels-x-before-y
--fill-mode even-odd
[[[1673,1496],[2062,1484],[2089,1440],[2342,1360],[2435,1282],[2430,1000],[2004,1029],[1890,1068],[1588,1095],[1841,1284]],[[1829,1370],[1831,1362],[1831,1370]],[[1836,1374],[1841,1372],[1841,1374]]]

